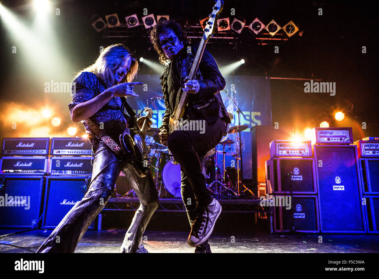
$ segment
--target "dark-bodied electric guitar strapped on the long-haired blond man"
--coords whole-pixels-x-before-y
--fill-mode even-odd
[[[153,110],[150,107],[144,108],[146,115],[151,119]],[[134,115],[134,126],[126,128],[119,136],[121,148],[124,153],[130,155],[136,161],[139,161],[144,167],[148,167],[150,147],[146,145],[145,137],[148,128],[147,119],[144,120],[141,130],[137,124],[137,116]]]

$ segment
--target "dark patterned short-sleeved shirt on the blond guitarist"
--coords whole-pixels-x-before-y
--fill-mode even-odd
[[[107,88],[108,87],[104,82],[95,74],[90,72],[81,73],[71,86],[72,102],[68,105],[70,113],[77,104],[91,100]],[[127,120],[121,111],[121,104],[120,97],[114,97],[90,117],[94,123],[100,128],[103,128],[105,133],[116,140],[116,142],[118,142],[119,134],[125,130],[125,123],[127,123]],[[83,123],[83,125],[89,134],[89,140],[91,143],[93,145],[98,145],[100,140],[94,137],[94,134],[85,123]]]

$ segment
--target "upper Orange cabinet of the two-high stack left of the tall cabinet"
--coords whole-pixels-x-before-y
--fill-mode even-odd
[[[315,159],[273,158],[266,161],[269,194],[316,194]]]

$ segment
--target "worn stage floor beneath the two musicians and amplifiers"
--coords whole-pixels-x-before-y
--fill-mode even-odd
[[[0,235],[15,230],[0,230]],[[42,244],[52,230],[34,230],[0,238],[0,243],[22,247],[36,247]],[[118,253],[126,230],[87,231],[75,253]],[[319,243],[319,236],[322,243]],[[144,246],[150,253],[192,253],[194,248],[187,244],[186,232],[146,232]],[[234,240],[234,241],[232,241]],[[214,233],[209,243],[213,253],[377,253],[379,235],[337,235],[337,234],[274,234]],[[36,251],[37,248],[32,248]],[[30,253],[27,248],[0,245],[1,253]]]

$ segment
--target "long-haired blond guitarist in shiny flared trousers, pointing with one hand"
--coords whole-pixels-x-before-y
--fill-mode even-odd
[[[159,204],[157,189],[150,173],[125,157],[117,162],[121,159],[119,154],[117,156],[105,143],[110,139],[117,142],[119,134],[129,126],[130,117],[121,109],[121,97],[138,96],[133,87],[142,82],[132,82],[137,70],[138,62],[133,54],[122,44],[114,44],[103,49],[96,62],[75,77],[69,104],[71,119],[78,123],[89,118],[109,136],[104,141],[103,137],[95,136],[87,122],[83,123],[95,154],[92,179],[105,169],[37,252],[74,252],[89,225],[111,197],[120,170],[125,173],[141,202],[125,235],[121,252],[147,252],[142,244],[142,235]],[[148,118],[141,117],[137,120],[139,128],[144,121],[149,126],[152,124]],[[110,164],[114,161],[116,163]]]

